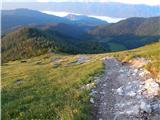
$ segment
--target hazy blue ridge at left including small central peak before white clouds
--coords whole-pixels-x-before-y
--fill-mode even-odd
[[[23,25],[67,23],[95,26],[107,23],[100,19],[80,15],[72,15],[75,18],[72,20],[70,16],[58,17],[29,9],[2,10],[2,33]]]

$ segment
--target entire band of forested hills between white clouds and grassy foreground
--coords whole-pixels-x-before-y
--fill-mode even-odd
[[[10,22],[8,30],[12,29],[2,35],[3,62],[37,56],[48,51],[77,54],[133,49],[160,38],[160,17],[134,17],[104,24],[103,21],[86,16],[69,15],[60,18],[32,10],[20,11],[3,12],[2,28]],[[4,16],[7,17],[3,19]],[[16,18],[13,23],[11,18]],[[27,22],[22,22],[23,20]]]

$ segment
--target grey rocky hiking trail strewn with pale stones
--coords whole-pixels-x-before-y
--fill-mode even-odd
[[[159,83],[142,68],[146,62],[105,58],[104,63],[104,76],[95,77],[96,88],[90,93],[92,119],[160,120]]]

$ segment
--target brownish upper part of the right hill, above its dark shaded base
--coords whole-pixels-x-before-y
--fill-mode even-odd
[[[160,17],[134,17],[117,23],[99,25],[90,31],[102,37],[117,35],[156,36],[160,35]]]

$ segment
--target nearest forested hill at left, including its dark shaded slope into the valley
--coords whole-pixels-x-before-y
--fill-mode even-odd
[[[2,37],[2,62],[30,58],[49,51],[70,54],[104,51],[96,41],[83,41],[61,30],[61,27],[60,29],[21,27],[4,35]]]

